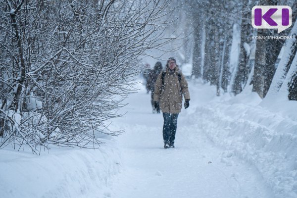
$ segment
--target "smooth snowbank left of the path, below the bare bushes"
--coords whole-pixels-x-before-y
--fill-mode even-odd
[[[0,197],[110,197],[110,180],[121,170],[121,164],[114,141],[104,142],[95,150],[52,148],[39,156],[1,149]]]

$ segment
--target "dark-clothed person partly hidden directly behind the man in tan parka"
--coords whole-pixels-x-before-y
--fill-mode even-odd
[[[157,106],[157,108],[154,106],[153,102],[153,95],[154,95],[154,86],[157,80],[158,75],[162,71],[162,63],[160,61],[156,62],[153,70],[148,74],[148,81],[147,81],[147,89],[150,90],[150,103],[152,106],[152,113],[160,113],[160,108]]]

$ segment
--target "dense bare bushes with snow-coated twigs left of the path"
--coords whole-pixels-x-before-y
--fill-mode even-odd
[[[0,148],[96,147],[170,0],[0,0]],[[93,143],[93,144],[90,144]]]

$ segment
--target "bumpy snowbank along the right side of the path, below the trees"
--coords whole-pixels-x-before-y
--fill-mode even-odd
[[[193,86],[193,85],[192,85]],[[201,85],[193,97],[214,93]],[[210,90],[206,90],[210,89]],[[250,93],[250,92],[249,92]],[[296,101],[262,107],[256,94],[222,96],[197,104],[187,115],[216,145],[254,166],[277,198],[297,197]],[[222,159],[224,160],[224,159]]]

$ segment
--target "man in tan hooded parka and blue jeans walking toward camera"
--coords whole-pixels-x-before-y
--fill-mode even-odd
[[[166,71],[161,72],[154,88],[154,106],[160,107],[163,113],[163,140],[164,148],[174,148],[177,117],[182,109],[183,96],[185,108],[190,103],[190,93],[185,76],[179,70],[174,57],[167,60]]]

